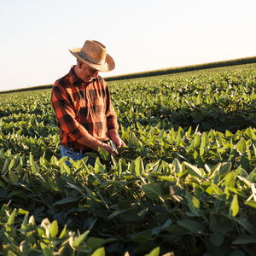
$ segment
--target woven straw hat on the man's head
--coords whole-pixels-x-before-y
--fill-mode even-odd
[[[83,61],[90,67],[98,71],[108,72],[115,67],[114,61],[107,54],[107,48],[95,40],[87,40],[83,48],[73,47],[69,51],[76,56],[79,61]]]

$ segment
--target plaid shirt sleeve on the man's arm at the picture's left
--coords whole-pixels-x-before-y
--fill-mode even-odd
[[[76,120],[70,96],[61,84],[55,82],[52,89],[51,105],[55,110],[55,116],[59,127],[73,141],[84,137],[88,131]]]

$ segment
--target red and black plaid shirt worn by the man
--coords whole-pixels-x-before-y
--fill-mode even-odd
[[[108,130],[119,130],[119,125],[106,81],[99,76],[85,85],[79,82],[73,67],[53,85],[51,104],[60,129],[61,145],[88,150],[77,142],[79,138],[89,132],[96,139],[107,141]]]

